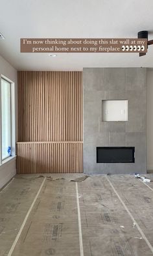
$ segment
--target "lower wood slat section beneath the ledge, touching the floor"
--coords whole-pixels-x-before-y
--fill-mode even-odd
[[[82,173],[82,142],[17,143],[21,173]]]

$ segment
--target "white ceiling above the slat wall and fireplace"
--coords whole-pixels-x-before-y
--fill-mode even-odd
[[[153,46],[138,53],[20,53],[20,38],[153,39],[152,0],[0,0],[0,55],[18,70],[153,67]]]

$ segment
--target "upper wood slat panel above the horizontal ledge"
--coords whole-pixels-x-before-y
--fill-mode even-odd
[[[18,72],[19,141],[82,141],[82,72]]]

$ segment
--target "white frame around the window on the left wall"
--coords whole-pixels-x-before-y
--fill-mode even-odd
[[[12,154],[12,85],[14,85],[14,82],[11,81],[9,78],[6,78],[6,76],[1,75],[0,76],[0,165],[5,163],[7,160],[9,160],[11,157],[8,156],[2,160],[2,112],[1,112],[1,81],[5,80],[8,83],[10,83],[10,147],[11,147],[11,154]]]

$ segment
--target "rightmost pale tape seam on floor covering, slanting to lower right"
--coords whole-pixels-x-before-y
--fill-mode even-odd
[[[147,237],[145,236],[145,234],[143,233],[143,231],[141,230],[141,228],[139,227],[139,225],[137,224],[137,221],[135,221],[134,217],[132,216],[132,214],[130,213],[130,210],[128,210],[128,207],[124,204],[123,200],[121,199],[120,195],[117,193],[117,191],[115,190],[115,188],[113,187],[112,182],[110,182],[109,178],[106,177],[106,179],[108,180],[108,182],[110,183],[110,186],[112,186],[113,191],[115,192],[115,194],[117,195],[117,197],[119,198],[119,201],[122,203],[122,205],[124,206],[126,212],[128,212],[128,215],[130,216],[130,218],[132,219],[132,221],[135,223],[135,226],[137,227],[139,233],[141,234],[141,236],[143,237],[143,239],[145,240],[145,242],[147,243],[148,247],[150,248],[150,250],[153,253],[153,247],[150,244],[150,242],[148,241]]]

